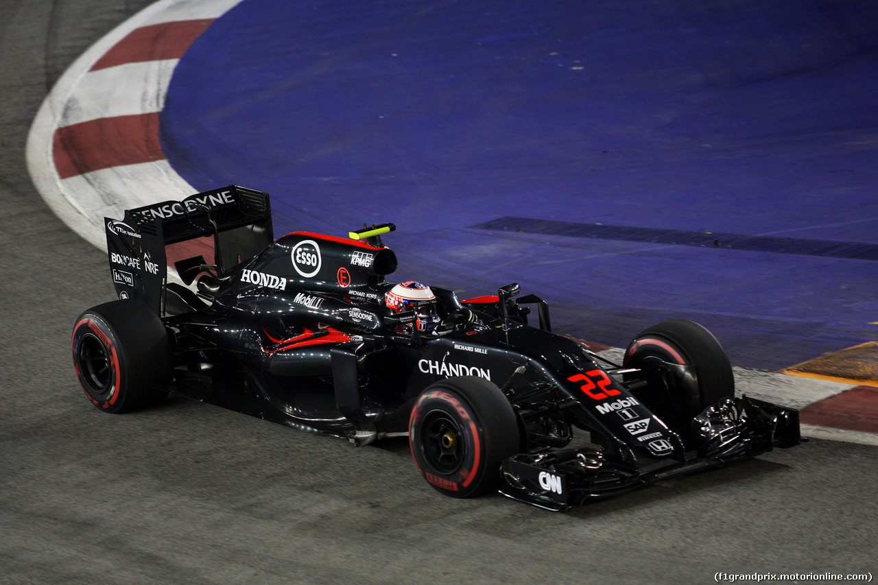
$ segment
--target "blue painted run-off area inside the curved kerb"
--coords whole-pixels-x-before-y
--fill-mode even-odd
[[[517,281],[591,341],[689,318],[773,369],[878,338],[874,261],[483,225],[878,244],[878,3],[244,0],[162,140],[198,190],[269,191],[277,233],[392,221],[394,278]]]

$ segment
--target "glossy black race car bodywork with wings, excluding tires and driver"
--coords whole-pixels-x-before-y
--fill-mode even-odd
[[[749,414],[729,423],[727,411],[708,413],[700,442],[684,444],[638,401],[620,366],[553,333],[548,305],[535,295],[516,300],[517,285],[464,302],[434,288],[450,325],[421,335],[409,315],[384,305],[393,285],[385,277],[397,267],[391,249],[377,238],[306,232],[275,241],[260,191],[199,193],[106,226],[119,297],[147,302],[169,331],[178,394],[367,444],[407,435],[414,401],[433,382],[479,376],[506,394],[522,433],[522,453],[503,465],[502,492],[549,509],[798,443],[795,410],[732,400],[727,410]],[[205,237],[212,261],[184,258],[176,263],[184,284],[170,281],[165,245]],[[534,306],[538,327],[528,324]],[[464,309],[476,318],[456,325]],[[592,446],[565,450],[573,429],[587,431]],[[638,459],[660,470],[642,473]]]

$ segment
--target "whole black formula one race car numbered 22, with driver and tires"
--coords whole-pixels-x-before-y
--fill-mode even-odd
[[[229,186],[105,229],[119,300],[79,317],[73,359],[107,412],[173,392],[354,444],[407,436],[439,492],[555,510],[800,441],[797,411],[734,396],[702,326],[646,329],[613,364],[518,285],[385,281],[392,224],[275,241],[268,195]]]

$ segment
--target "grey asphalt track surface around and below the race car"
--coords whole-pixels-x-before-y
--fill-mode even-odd
[[[104,255],[32,188],[31,120],[148,2],[0,2],[0,582],[701,583],[875,574],[874,447],[814,440],[563,515],[436,495],[405,442],[354,449],[189,401],[108,416],[68,355]],[[801,581],[821,582],[821,581]]]

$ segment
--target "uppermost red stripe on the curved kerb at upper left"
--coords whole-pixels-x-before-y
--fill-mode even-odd
[[[178,20],[136,28],[107,51],[91,70],[125,63],[179,59],[214,20],[216,18]]]

